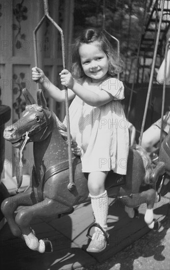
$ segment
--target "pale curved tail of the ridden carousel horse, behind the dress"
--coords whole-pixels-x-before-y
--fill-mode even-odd
[[[144,185],[149,185],[153,184],[150,179],[151,179],[151,173],[153,172],[153,164],[151,162],[151,159],[149,157],[149,154],[147,151],[140,145],[135,144],[132,146],[133,149],[135,149],[141,156],[142,161],[144,163],[144,168],[145,168],[145,176],[144,176]]]

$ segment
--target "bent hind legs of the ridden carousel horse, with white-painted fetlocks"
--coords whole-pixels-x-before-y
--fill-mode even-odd
[[[153,218],[153,206],[156,199],[155,189],[148,189],[141,193],[131,194],[121,197],[121,201],[125,205],[125,212],[130,218],[135,216],[134,207],[146,203],[147,209],[145,214],[145,222],[150,229],[158,229],[158,222]],[[131,208],[131,209],[130,209]]]

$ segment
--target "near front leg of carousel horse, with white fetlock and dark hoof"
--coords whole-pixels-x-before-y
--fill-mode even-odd
[[[70,206],[65,206],[63,203],[46,198],[43,201],[33,206],[21,209],[18,212],[17,216],[15,217],[15,221],[21,228],[25,243],[30,249],[37,250],[40,253],[52,251],[51,242],[47,239],[41,239],[38,241],[37,237],[31,231],[29,224],[34,217],[48,217],[60,214],[63,207],[68,208],[68,210],[70,209]]]

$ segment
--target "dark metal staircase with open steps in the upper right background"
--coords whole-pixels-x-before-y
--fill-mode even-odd
[[[161,13],[161,0],[151,0],[146,6],[146,18],[144,21],[144,32],[141,38],[137,81],[140,83],[148,82],[152,59],[155,48],[155,41],[158,31],[159,18]],[[165,0],[163,17],[160,29],[159,44],[155,69],[160,64],[165,55],[165,45],[167,33],[170,32],[170,0]]]

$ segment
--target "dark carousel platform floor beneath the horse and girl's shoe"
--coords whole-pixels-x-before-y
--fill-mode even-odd
[[[86,237],[93,223],[90,203],[75,206],[71,215],[60,218],[34,219],[31,227],[38,239],[49,238],[52,253],[40,254],[30,250],[26,244],[15,238],[5,223],[0,230],[1,270],[73,270],[82,266],[104,262],[125,247],[139,241],[147,232],[144,221],[146,204],[139,207],[139,218],[130,219],[118,199],[109,199],[109,245],[101,253],[88,253]],[[154,216],[161,223],[169,215],[170,192],[154,206]],[[93,233],[93,229],[92,229]]]

